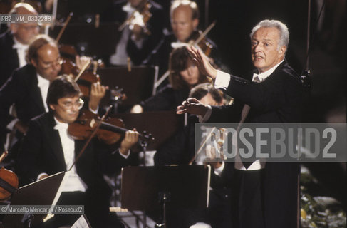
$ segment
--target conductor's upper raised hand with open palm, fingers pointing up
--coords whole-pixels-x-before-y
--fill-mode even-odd
[[[217,76],[217,70],[211,65],[211,63],[209,63],[209,60],[204,56],[204,53],[194,46],[187,46],[187,50],[192,57],[192,61],[197,64],[199,71],[214,80]]]

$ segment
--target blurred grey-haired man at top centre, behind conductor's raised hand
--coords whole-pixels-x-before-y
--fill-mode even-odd
[[[183,46],[199,37],[199,8],[194,1],[175,0],[170,6],[172,33],[165,35],[143,62],[145,65],[159,66],[159,76],[167,71],[168,59],[174,48]],[[219,53],[216,44],[209,38],[206,42],[213,46],[210,57],[219,65]]]

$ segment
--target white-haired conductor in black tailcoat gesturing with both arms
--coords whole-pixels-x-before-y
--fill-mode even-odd
[[[263,20],[254,26],[250,38],[256,68],[252,81],[216,70],[200,51],[189,48],[200,71],[214,79],[216,88],[224,88],[234,97],[235,104],[242,105],[211,107],[191,99],[177,107],[177,113],[201,115],[209,123],[300,123],[304,90],[300,77],[284,58],[289,43],[288,28],[281,21]],[[296,227],[298,175],[296,162],[236,160],[232,182],[233,227]]]

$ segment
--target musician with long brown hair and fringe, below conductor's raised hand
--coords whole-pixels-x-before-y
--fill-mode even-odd
[[[135,105],[131,113],[149,111],[175,110],[183,100],[188,98],[190,89],[208,78],[199,72],[192,62],[187,48],[176,48],[170,54],[170,84],[162,87],[155,95]]]

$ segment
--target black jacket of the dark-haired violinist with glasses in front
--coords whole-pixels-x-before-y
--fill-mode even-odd
[[[54,129],[53,113],[44,113],[31,120],[29,130],[21,142],[18,154],[18,170],[21,184],[33,182],[42,172],[53,175],[66,171],[61,138]],[[75,140],[75,155],[81,151],[85,140]],[[107,209],[110,188],[102,174],[117,172],[127,165],[127,160],[118,151],[98,140],[92,140],[76,162],[76,172],[87,185],[87,199],[98,199],[103,209]],[[96,200],[95,200],[96,201]]]

